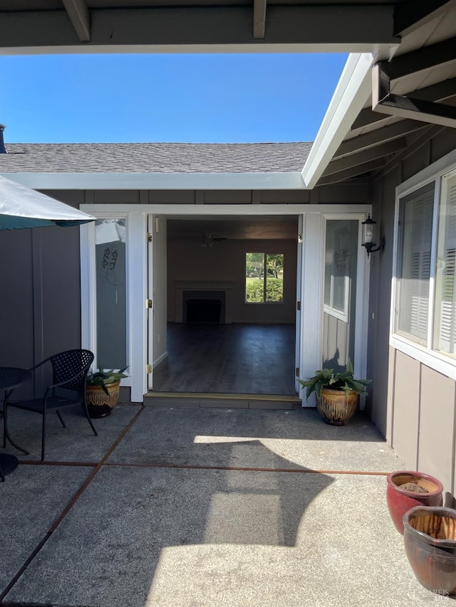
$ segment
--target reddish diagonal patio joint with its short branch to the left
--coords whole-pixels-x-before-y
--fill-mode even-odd
[[[110,445],[110,447],[108,448],[108,450],[105,452],[105,454],[103,455],[103,457],[100,459],[100,461],[98,463],[87,463],[87,462],[67,462],[67,463],[62,462],[62,463],[60,463],[60,462],[46,462],[46,461],[45,462],[41,462],[41,461],[33,462],[31,460],[21,462],[21,464],[25,464],[25,465],[49,465],[49,466],[68,465],[68,466],[87,466],[87,467],[90,467],[90,465],[92,465],[92,466],[94,466],[94,468],[90,472],[90,474],[88,475],[86,480],[83,482],[81,487],[78,489],[76,494],[73,495],[73,497],[71,497],[71,500],[68,502],[66,507],[63,508],[61,514],[59,514],[57,519],[53,522],[53,524],[51,524],[51,527],[49,527],[48,531],[46,532],[46,534],[44,534],[43,538],[38,542],[36,547],[28,555],[26,561],[21,566],[21,569],[19,569],[19,571],[16,573],[16,575],[13,577],[13,579],[11,579],[9,584],[6,585],[6,588],[0,594],[0,605],[8,604],[8,603],[4,603],[4,598],[6,597],[6,595],[9,593],[9,591],[11,591],[11,588],[13,588],[13,586],[16,584],[16,582],[19,580],[19,578],[22,576],[22,574],[24,574],[24,571],[26,571],[26,569],[31,564],[31,562],[36,557],[36,555],[41,551],[41,549],[46,544],[46,542],[48,542],[48,539],[51,538],[53,532],[56,531],[58,525],[61,524],[63,519],[65,519],[68,512],[70,512],[70,510],[76,504],[76,502],[81,497],[81,495],[83,495],[83,492],[86,491],[87,487],[93,481],[95,476],[100,472],[101,468],[103,468],[103,465],[105,465],[106,460],[110,457],[111,453],[113,453],[113,450],[115,450],[115,448],[118,446],[120,441],[124,438],[125,434],[128,433],[128,431],[130,431],[130,428],[132,428],[132,426],[134,426],[135,422],[138,420],[138,418],[140,417],[140,415],[143,411],[145,411],[144,406],[142,406],[140,408],[138,413],[136,413],[135,416],[133,417],[133,419],[130,421],[130,423],[128,423],[128,426],[126,426],[123,429],[123,431],[119,434],[118,438],[116,438],[114,440],[113,444]]]

